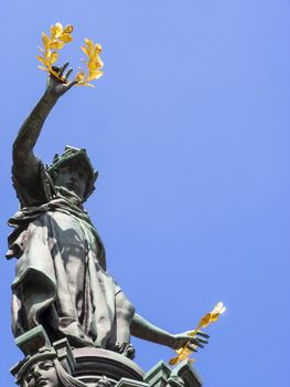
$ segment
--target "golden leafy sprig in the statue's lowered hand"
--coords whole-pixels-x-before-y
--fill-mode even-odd
[[[226,307],[224,306],[224,304],[222,302],[218,302],[215,307],[213,308],[212,312],[206,313],[198,322],[196,328],[190,333],[187,333],[189,336],[195,336],[196,333],[206,327],[207,325],[210,325],[211,323],[215,323],[218,317],[221,316],[222,313],[224,313],[226,310]],[[169,360],[170,365],[176,365],[179,363],[181,363],[182,360],[187,359],[191,354],[192,351],[189,348],[189,345],[194,346],[193,344],[191,344],[191,342],[187,342],[182,348],[176,349],[176,354],[178,356],[171,358]],[[196,347],[196,346],[195,346]],[[194,362],[194,359],[190,359],[191,363]]]

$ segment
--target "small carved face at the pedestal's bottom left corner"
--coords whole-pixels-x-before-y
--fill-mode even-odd
[[[26,374],[28,387],[58,387],[58,377],[52,360],[34,363]]]

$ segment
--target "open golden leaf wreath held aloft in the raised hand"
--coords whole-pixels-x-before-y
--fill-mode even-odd
[[[65,44],[73,41],[72,33],[74,28],[72,24],[63,27],[60,22],[51,27],[50,36],[45,32],[42,32],[43,49],[39,48],[42,55],[36,55],[37,60],[42,63],[39,69],[53,74],[57,80],[63,83],[71,83],[64,76],[60,76],[56,71],[53,70],[53,65],[58,60],[58,52]],[[85,45],[80,48],[87,55],[86,61],[83,61],[87,65],[87,72],[83,69],[76,74],[74,81],[78,86],[90,86],[88,82],[99,79],[103,75],[100,69],[104,66],[103,61],[99,57],[101,52],[100,44],[94,44],[90,39],[85,39]]]

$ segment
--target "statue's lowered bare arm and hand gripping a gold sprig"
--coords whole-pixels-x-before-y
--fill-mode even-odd
[[[141,317],[139,314],[135,314],[131,326],[131,334],[136,337],[153,342],[161,345],[167,345],[173,349],[181,348],[186,343],[196,345],[201,348],[204,347],[203,344],[207,344],[207,341],[204,338],[208,338],[208,335],[205,333],[198,332],[196,336],[190,336],[187,333],[182,334],[171,334],[167,331],[159,328],[158,326],[149,323],[147,320]],[[189,348],[196,352],[196,348],[189,345]]]

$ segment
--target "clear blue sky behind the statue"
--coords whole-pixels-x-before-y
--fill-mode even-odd
[[[108,268],[137,311],[170,331],[195,327],[218,301],[195,367],[204,386],[288,387],[289,0],[160,0],[2,6],[1,255],[18,209],[11,145],[42,95],[41,32],[75,27],[61,53],[79,64],[88,36],[105,76],[50,115],[36,154],[66,144],[99,170],[87,202]],[[1,386],[21,358],[10,332],[14,261],[1,260]],[[133,341],[149,370],[174,353]]]

